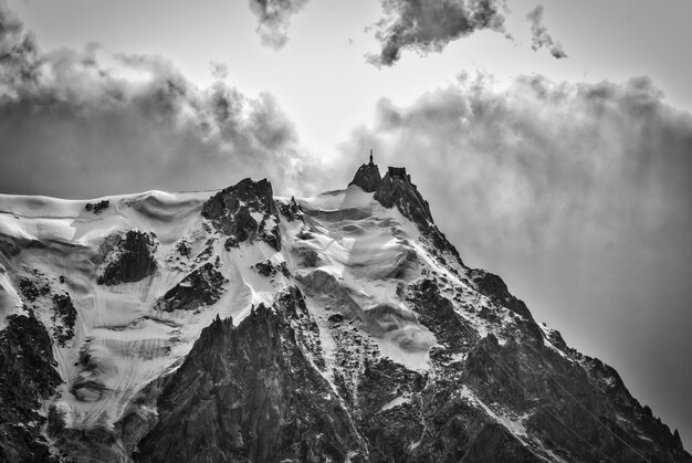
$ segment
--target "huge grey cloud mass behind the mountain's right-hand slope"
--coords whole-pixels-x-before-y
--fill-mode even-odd
[[[406,166],[468,264],[692,438],[692,116],[646,77],[496,88],[462,76],[410,106],[382,99],[345,157],[373,146]]]

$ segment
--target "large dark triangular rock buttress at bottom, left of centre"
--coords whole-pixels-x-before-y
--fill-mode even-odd
[[[159,421],[136,461],[345,461],[363,455],[353,424],[290,324],[293,291],[238,327],[205,328],[158,400]],[[358,461],[354,457],[353,461]]]

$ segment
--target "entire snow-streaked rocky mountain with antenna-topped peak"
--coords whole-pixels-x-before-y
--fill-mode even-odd
[[[3,462],[692,462],[371,159],[308,198],[0,196],[0,290]]]

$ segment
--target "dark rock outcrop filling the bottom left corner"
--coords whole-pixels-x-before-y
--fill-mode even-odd
[[[61,382],[51,338],[32,313],[10,315],[7,322],[0,332],[0,461],[56,461],[38,411]]]

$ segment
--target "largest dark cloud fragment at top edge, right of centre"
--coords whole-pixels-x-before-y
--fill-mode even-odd
[[[369,55],[375,65],[390,66],[402,50],[420,54],[440,52],[448,43],[471,33],[492,29],[504,31],[502,0],[380,0],[384,18],[375,36],[382,48]]]

